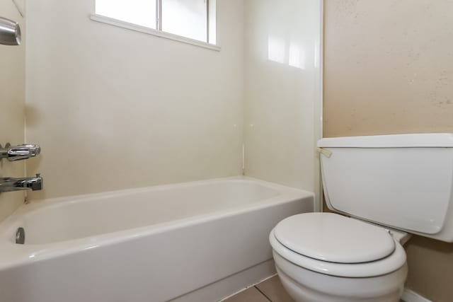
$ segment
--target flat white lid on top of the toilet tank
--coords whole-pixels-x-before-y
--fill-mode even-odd
[[[452,133],[390,134],[320,139],[320,148],[451,148]]]

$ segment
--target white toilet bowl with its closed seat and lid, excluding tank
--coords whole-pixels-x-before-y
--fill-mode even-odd
[[[338,214],[306,213],[281,221],[269,239],[277,274],[294,301],[399,301],[406,253],[383,228]]]

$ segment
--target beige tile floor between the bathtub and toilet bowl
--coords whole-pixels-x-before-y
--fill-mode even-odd
[[[277,276],[227,298],[224,302],[294,302],[283,289]]]

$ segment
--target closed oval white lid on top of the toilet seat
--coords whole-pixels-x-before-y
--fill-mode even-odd
[[[372,262],[395,250],[384,228],[333,213],[288,217],[275,226],[274,235],[289,250],[326,262]]]

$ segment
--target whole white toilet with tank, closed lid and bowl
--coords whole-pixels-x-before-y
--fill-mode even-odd
[[[408,233],[453,241],[453,134],[321,139],[333,213],[291,216],[270,233],[297,302],[399,301]],[[397,231],[398,230],[398,231]]]

